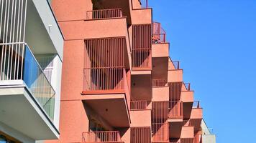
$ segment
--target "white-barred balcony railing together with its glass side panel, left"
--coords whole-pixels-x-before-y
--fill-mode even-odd
[[[23,80],[29,92],[53,120],[55,91],[24,42],[0,44],[0,81]]]

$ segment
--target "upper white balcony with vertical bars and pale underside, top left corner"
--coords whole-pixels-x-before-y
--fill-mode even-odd
[[[3,16],[0,39],[3,43],[26,42],[35,54],[58,54],[63,59],[63,34],[48,1],[0,3]]]

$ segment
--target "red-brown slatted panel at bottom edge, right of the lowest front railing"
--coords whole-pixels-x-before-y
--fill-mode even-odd
[[[131,143],[150,143],[150,127],[131,127]]]

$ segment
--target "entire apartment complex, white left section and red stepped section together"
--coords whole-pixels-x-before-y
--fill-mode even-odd
[[[0,8],[0,142],[206,140],[203,109],[146,0]]]

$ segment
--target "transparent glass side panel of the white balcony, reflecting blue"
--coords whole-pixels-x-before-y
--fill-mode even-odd
[[[53,119],[55,91],[28,46],[25,49],[23,80],[27,84],[29,92],[33,94],[37,102],[45,109],[45,112]]]

